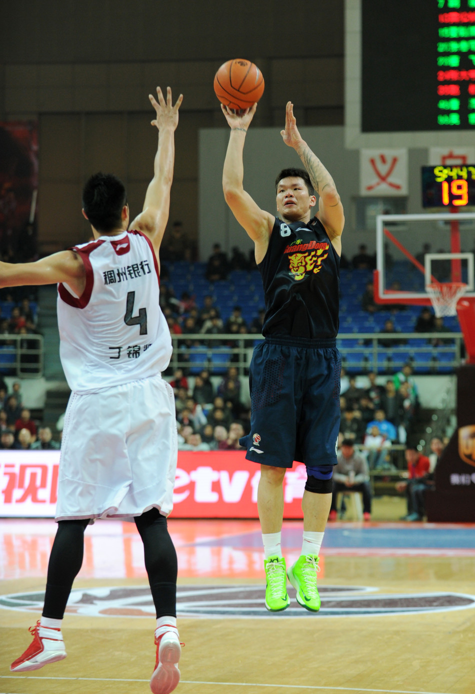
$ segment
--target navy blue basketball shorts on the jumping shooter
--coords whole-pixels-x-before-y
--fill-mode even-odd
[[[249,368],[251,432],[246,458],[291,468],[336,465],[341,357],[335,340],[270,337]]]

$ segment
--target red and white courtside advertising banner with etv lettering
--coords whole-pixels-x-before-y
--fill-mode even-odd
[[[178,451],[173,518],[258,518],[260,467],[245,451]],[[0,452],[0,517],[52,518],[58,487],[58,450]],[[302,518],[306,468],[284,480],[284,518]]]

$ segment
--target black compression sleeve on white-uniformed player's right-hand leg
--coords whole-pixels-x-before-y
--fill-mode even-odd
[[[157,617],[176,617],[178,563],[167,518],[153,508],[134,520],[144,543],[145,568]]]

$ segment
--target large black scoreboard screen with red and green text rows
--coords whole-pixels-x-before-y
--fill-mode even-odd
[[[475,0],[361,0],[361,21],[362,133],[475,133]]]

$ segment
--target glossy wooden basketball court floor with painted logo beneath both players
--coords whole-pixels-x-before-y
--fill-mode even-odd
[[[263,609],[257,521],[169,521],[178,552],[181,694],[474,694],[475,526],[338,522],[322,611]],[[135,527],[86,531],[63,634],[68,657],[8,669],[40,616],[55,524],[0,520],[0,694],[146,694],[153,605]],[[288,563],[301,523],[286,521]]]

